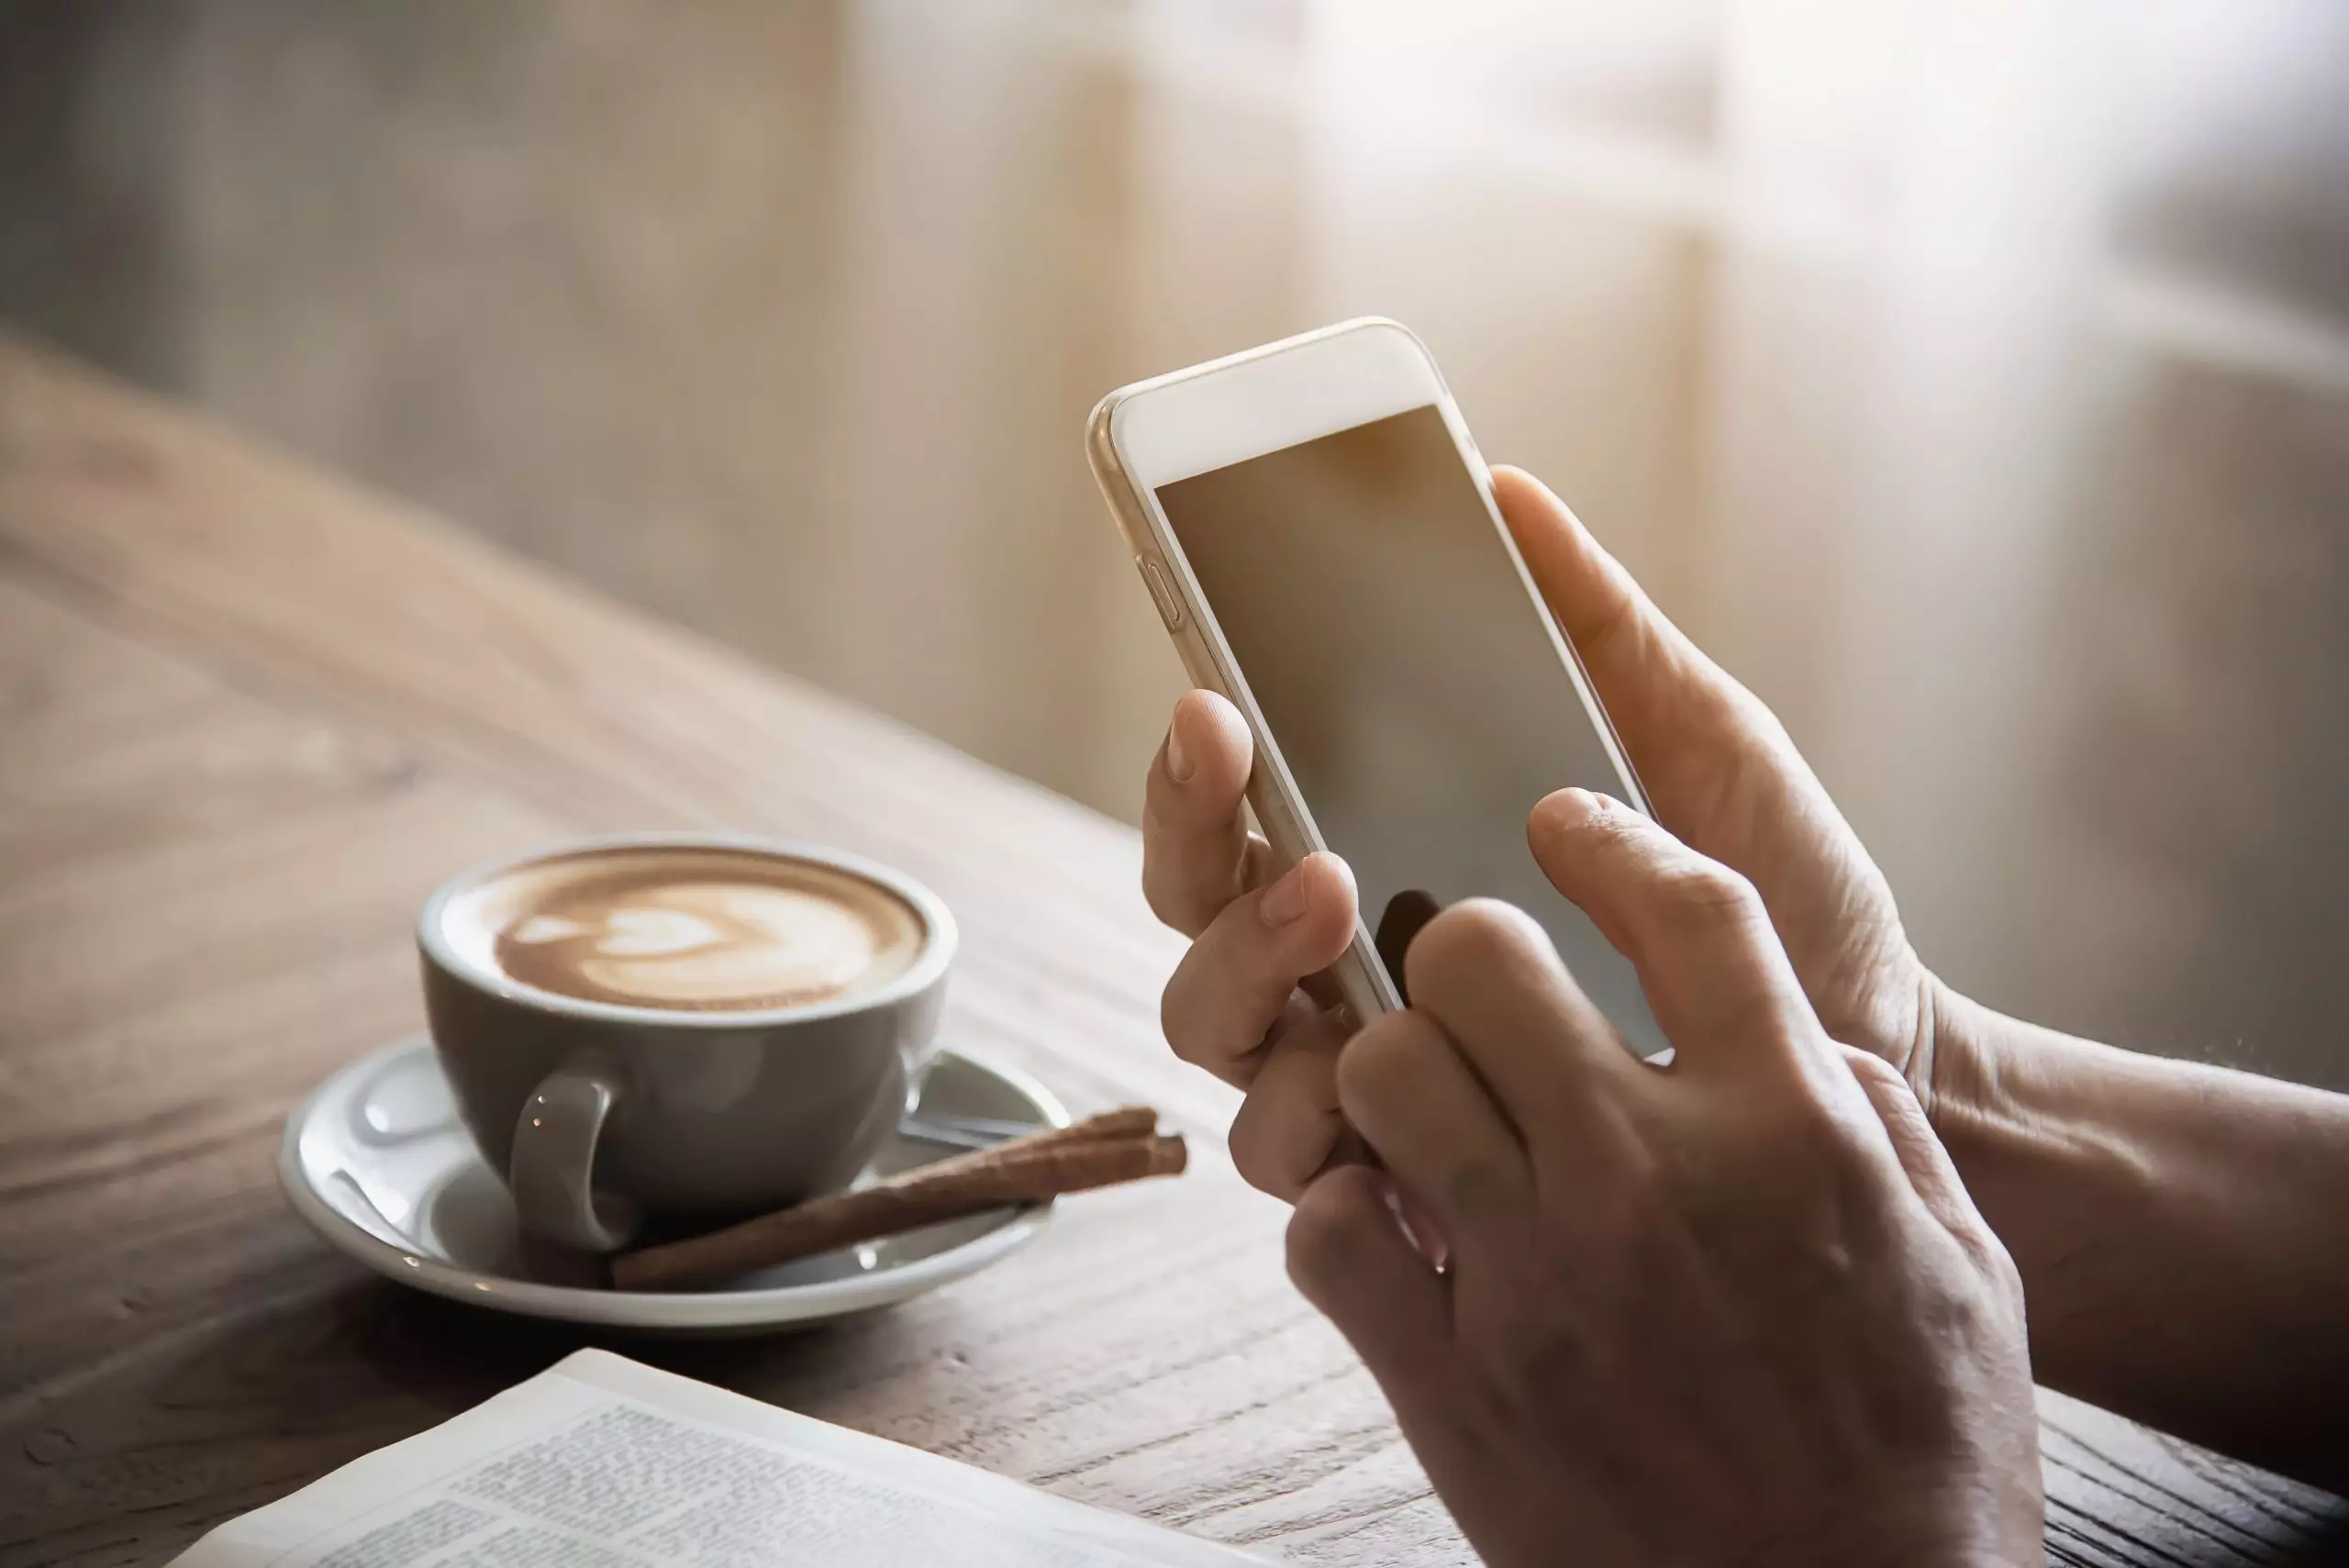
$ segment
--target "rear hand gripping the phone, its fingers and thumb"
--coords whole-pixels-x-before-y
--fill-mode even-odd
[[[1494,498],[1658,822],[1755,885],[1828,1033],[1900,1068],[1931,1110],[1940,988],[1785,728],[1536,479],[1499,467]],[[1149,775],[1142,880],[1158,918],[1198,939],[1165,991],[1167,1042],[1247,1089],[1233,1162],[1297,1197],[1346,1143],[1332,1077],[1346,1021],[1306,976],[1346,951],[1355,892],[1327,854],[1266,890],[1266,847],[1240,819],[1250,765],[1247,723],[1229,702],[1191,692],[1174,707]]]

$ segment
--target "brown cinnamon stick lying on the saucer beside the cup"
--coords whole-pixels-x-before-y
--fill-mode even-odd
[[[1156,1127],[1158,1113],[1144,1106],[1109,1110],[726,1230],[620,1253],[611,1261],[611,1282],[622,1291],[709,1284],[984,1209],[1172,1176],[1184,1169],[1184,1141],[1160,1138]]]

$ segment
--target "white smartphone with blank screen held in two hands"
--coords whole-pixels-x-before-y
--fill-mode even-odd
[[[1525,838],[1555,789],[1647,796],[1426,345],[1360,319],[1142,380],[1092,411],[1088,453],[1184,669],[1254,732],[1276,854],[1353,866],[1334,979],[1355,1016],[1402,1007],[1412,934],[1485,894],[1663,1052],[1630,962]]]

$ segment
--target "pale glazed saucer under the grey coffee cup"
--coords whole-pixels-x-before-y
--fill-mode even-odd
[[[940,1052],[916,1115],[963,1124],[1069,1122],[1043,1084],[956,1052]],[[867,1174],[954,1153],[893,1136]],[[277,1181],[294,1211],[336,1251],[388,1279],[529,1317],[677,1333],[740,1333],[886,1307],[1008,1258],[1052,1218],[1050,1204],[994,1209],[702,1291],[613,1291],[597,1284],[597,1261],[519,1237],[505,1185],[458,1122],[423,1035],[397,1040],[319,1084],[287,1117]]]

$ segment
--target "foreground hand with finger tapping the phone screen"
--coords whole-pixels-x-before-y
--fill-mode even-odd
[[[1391,1176],[1339,1167],[1290,1221],[1292,1277],[1478,1554],[2037,1561],[2022,1286],[1907,1084],[1830,1040],[1736,873],[1581,791],[1532,843],[1637,965],[1672,1066],[1527,915],[1459,904],[1405,960],[1412,1009],[1337,1061]]]

